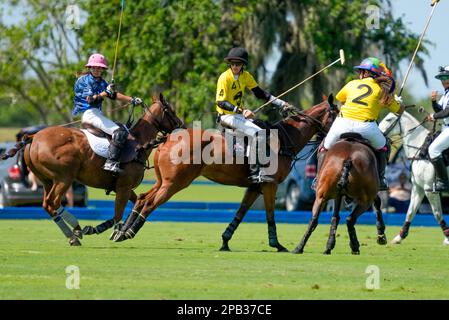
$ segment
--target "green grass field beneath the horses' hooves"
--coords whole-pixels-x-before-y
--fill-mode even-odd
[[[88,221],[82,221],[82,225]],[[91,221],[96,224],[98,221]],[[322,254],[328,225],[319,225],[303,255],[274,252],[265,224],[242,223],[220,252],[226,223],[147,222],[133,240],[109,232],[69,247],[50,220],[0,220],[0,299],[448,299],[448,247],[438,228],[412,228],[401,245],[379,246],[374,226],[358,226],[361,255],[340,226],[332,255]],[[290,250],[306,225],[278,224]],[[398,227],[387,228],[392,239]],[[66,267],[80,289],[66,288]],[[380,271],[369,289],[367,267]]]

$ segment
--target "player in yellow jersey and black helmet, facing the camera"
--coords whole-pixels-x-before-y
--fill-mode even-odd
[[[250,137],[252,145],[256,145],[255,138],[258,148],[265,148],[267,144],[265,134],[258,134],[262,129],[251,120],[254,118],[254,113],[245,109],[243,96],[245,89],[248,88],[261,100],[270,101],[275,97],[262,90],[254,77],[244,70],[248,64],[248,52],[244,48],[232,48],[224,60],[228,63],[229,68],[220,75],[217,82],[217,121],[225,127],[230,127]],[[281,99],[275,99],[272,103],[278,107],[289,106]],[[253,183],[272,182],[273,179],[263,171],[259,156],[256,156],[255,160],[256,163],[250,163],[249,179]]]

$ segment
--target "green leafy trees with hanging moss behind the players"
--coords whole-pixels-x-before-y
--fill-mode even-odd
[[[82,18],[77,17],[75,28],[71,1],[6,4],[4,14],[8,8],[22,8],[26,14],[13,24],[0,21],[0,104],[11,111],[0,124],[70,121],[74,74],[89,55],[104,54],[112,69],[121,1],[77,1]],[[368,23],[369,5],[380,13],[376,28]],[[336,60],[343,48],[346,66],[332,68],[286,96],[308,108],[323,93],[339,90],[353,75],[352,65],[366,56],[379,56],[397,69],[411,58],[418,39],[392,16],[386,0],[133,0],[125,1],[122,23],[114,75],[118,89],[144,100],[163,91],[188,123],[201,119],[208,125],[215,117],[216,82],[227,68],[223,58],[233,46],[248,49],[249,70],[274,95]],[[427,45],[415,61],[424,77]],[[254,107],[261,104],[247,101]]]

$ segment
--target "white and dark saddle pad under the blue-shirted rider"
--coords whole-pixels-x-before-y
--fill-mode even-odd
[[[121,124],[120,124],[121,125]],[[83,123],[81,131],[86,135],[89,145],[95,154],[100,157],[108,157],[109,144],[111,143],[112,136],[104,131]],[[140,150],[135,138],[129,133],[126,143],[120,153],[119,161],[121,163],[127,163],[134,160],[140,161]]]

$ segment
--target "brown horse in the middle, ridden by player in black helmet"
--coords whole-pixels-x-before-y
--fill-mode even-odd
[[[274,221],[276,190],[278,184],[288,175],[295,155],[314,134],[317,132],[327,133],[329,130],[338,113],[338,108],[333,105],[332,101],[333,97],[330,96],[327,101],[325,99],[322,103],[305,112],[296,111],[293,116],[288,117],[278,124],[278,131],[285,133],[285,138],[281,139],[281,151],[284,150],[284,152],[279,152],[278,155],[275,155],[275,160],[277,160],[278,166],[277,171],[272,175],[274,182],[270,183],[252,184],[248,179],[248,165],[245,164],[206,164],[204,161],[192,164],[194,163],[192,161],[192,155],[196,153],[193,141],[195,132],[192,130],[188,131],[188,137],[190,137],[188,143],[192,147],[190,149],[192,150],[190,153],[190,161],[187,161],[187,163],[173,164],[171,156],[175,152],[174,150],[177,146],[177,141],[170,141],[171,139],[169,137],[169,141],[159,146],[154,156],[157,177],[155,185],[147,194],[143,194],[139,197],[131,215],[125,222],[122,230],[117,232],[117,236],[114,240],[123,241],[133,238],[153,210],[168,201],[178,191],[188,187],[195,178],[203,175],[204,177],[221,184],[247,188],[234,220],[229,224],[222,235],[223,245],[221,250],[229,251],[228,242],[234,231],[260,193],[263,193],[268,224],[269,245],[277,248],[278,251],[287,251],[287,249],[279,243],[276,233],[276,224]],[[209,141],[197,144],[197,148],[200,149],[198,151],[200,154],[203,154],[202,152],[206,148],[211,148],[212,153],[223,155],[226,153],[226,147],[224,147],[226,143],[223,140],[224,138],[222,135],[213,136]],[[214,143],[217,141],[220,142],[217,144],[219,146],[218,148],[214,147]]]

